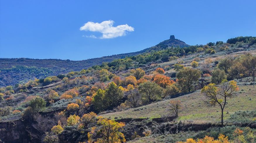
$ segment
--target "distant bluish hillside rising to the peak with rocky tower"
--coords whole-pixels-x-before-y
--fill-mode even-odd
[[[115,59],[136,56],[151,50],[161,50],[167,47],[188,47],[185,42],[175,39],[174,35],[169,40],[160,42],[156,46],[141,51],[124,53],[101,58],[92,58],[81,61],[61,59],[30,59],[30,58],[0,58],[0,87],[15,85],[19,82],[27,82],[34,78],[45,78],[57,76],[71,71],[87,69],[91,66],[101,65],[103,62],[110,62]]]

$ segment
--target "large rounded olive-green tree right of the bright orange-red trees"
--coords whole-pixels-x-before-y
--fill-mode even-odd
[[[198,79],[201,77],[201,72],[198,69],[183,68],[176,74],[178,85],[184,87],[185,91],[190,92],[197,84]]]

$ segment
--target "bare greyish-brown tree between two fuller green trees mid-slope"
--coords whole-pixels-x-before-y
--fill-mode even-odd
[[[129,93],[126,104],[133,108],[136,108],[141,104],[141,95],[137,89],[134,89]]]

